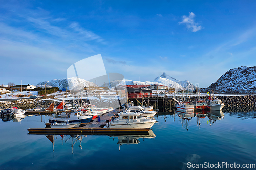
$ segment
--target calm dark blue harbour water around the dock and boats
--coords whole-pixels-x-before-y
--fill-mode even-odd
[[[256,163],[255,117],[256,112],[160,113],[151,135],[54,135],[54,148],[45,135],[27,134],[28,128],[45,128],[45,116],[0,120],[0,169],[189,169],[187,162],[242,166]]]

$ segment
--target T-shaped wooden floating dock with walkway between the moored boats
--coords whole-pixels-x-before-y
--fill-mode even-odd
[[[119,112],[119,111],[118,111]],[[103,128],[107,124],[107,120],[112,118],[114,114],[118,113],[110,112],[100,116],[100,121],[98,118],[93,119],[90,123],[82,123],[82,127],[79,128],[30,128],[28,129],[28,134],[82,134],[82,135],[107,135],[107,134],[148,134],[149,129],[134,129],[134,128],[124,128],[124,129],[110,129],[110,128]]]

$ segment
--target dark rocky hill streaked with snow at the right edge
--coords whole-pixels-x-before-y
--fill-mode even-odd
[[[215,93],[255,93],[256,67],[238,67],[230,69],[208,88],[201,92],[214,90]]]

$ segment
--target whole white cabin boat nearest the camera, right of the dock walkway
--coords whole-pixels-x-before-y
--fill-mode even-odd
[[[141,112],[120,112],[117,119],[113,119],[105,128],[151,128],[156,120],[143,117]]]

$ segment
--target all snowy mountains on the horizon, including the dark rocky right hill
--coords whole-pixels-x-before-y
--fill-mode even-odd
[[[173,87],[176,91],[179,90],[194,90],[195,86],[191,84],[189,81],[177,80],[165,72],[155,78],[153,81],[133,81],[133,80],[125,80],[126,85],[152,85],[159,84],[168,87]],[[67,79],[53,79],[51,81],[42,82],[43,85],[47,85],[47,87],[59,87],[69,89],[69,84],[71,87],[77,86],[97,86],[96,84],[86,81],[80,78],[69,78]],[[121,84],[121,81],[113,81],[110,83],[105,83],[102,87],[114,87],[115,85]],[[122,83],[124,84],[124,83]],[[37,87],[41,87],[41,83],[36,85]],[[214,93],[256,93],[256,66],[254,67],[238,67],[234,69],[230,69],[225,74],[223,74],[215,83],[212,83],[207,88],[201,88],[200,91],[202,93],[210,92],[213,90]]]

